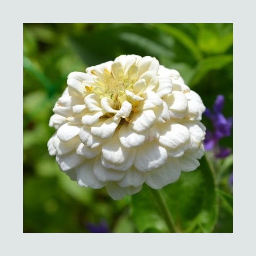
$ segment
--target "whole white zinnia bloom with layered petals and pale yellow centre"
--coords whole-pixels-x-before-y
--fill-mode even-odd
[[[72,72],[53,108],[48,141],[60,169],[80,186],[106,186],[112,199],[160,189],[204,154],[205,110],[178,71],[153,57],[121,55]]]

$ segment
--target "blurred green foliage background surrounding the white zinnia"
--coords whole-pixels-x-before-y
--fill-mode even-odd
[[[47,151],[52,108],[70,72],[137,54],[178,70],[210,110],[223,95],[222,114],[232,117],[232,24],[24,24],[23,43],[24,232],[166,232],[157,210],[141,205],[146,188],[114,201],[104,188],[80,188],[58,169]],[[209,116],[202,122],[214,132]],[[180,232],[232,232],[232,131],[217,146],[228,152],[207,152],[212,185],[202,171],[167,186],[178,200],[170,204]]]

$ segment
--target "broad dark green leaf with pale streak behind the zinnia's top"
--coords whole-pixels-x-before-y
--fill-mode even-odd
[[[121,54],[174,56],[173,40],[146,24],[109,24],[82,35],[71,35],[71,44],[88,65],[113,60]],[[170,44],[170,45],[169,45]]]

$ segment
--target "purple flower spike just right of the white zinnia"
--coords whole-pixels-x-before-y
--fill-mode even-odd
[[[213,150],[215,157],[223,158],[227,157],[231,153],[231,149],[219,147],[219,140],[223,137],[230,136],[230,130],[232,128],[232,117],[225,118],[222,114],[224,106],[224,96],[218,95],[213,106],[213,112],[206,108],[204,115],[211,120],[214,131],[206,131],[204,140],[205,150]]]

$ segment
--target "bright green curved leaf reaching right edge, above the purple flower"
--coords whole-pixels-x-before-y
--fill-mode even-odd
[[[192,87],[199,83],[209,71],[222,69],[226,65],[232,63],[232,61],[232,55],[218,55],[199,61],[196,65],[194,76],[191,78],[191,81],[189,81],[189,86]]]

